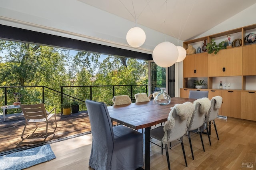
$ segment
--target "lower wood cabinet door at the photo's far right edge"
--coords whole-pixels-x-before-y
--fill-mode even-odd
[[[256,92],[241,92],[241,119],[256,121]]]

